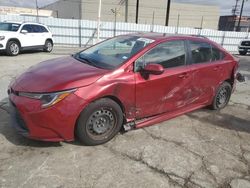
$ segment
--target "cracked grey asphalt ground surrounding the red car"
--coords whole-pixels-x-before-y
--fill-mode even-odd
[[[10,80],[77,50],[0,54],[0,187],[250,187],[250,56],[240,61],[248,80],[221,111],[197,110],[95,147],[18,135],[9,123]]]

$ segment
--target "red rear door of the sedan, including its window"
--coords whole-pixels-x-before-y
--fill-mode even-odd
[[[191,68],[193,70],[194,103],[205,104],[213,98],[223,77],[223,54],[205,41],[189,41]]]

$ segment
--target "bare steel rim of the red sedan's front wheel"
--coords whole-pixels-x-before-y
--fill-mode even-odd
[[[117,119],[112,109],[98,109],[87,120],[87,133],[94,140],[102,140],[113,133],[116,124]]]

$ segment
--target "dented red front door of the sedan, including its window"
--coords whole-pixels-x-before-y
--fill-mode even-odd
[[[178,110],[192,97],[192,74],[186,65],[187,53],[184,40],[163,42],[135,62],[136,118],[149,117]],[[140,67],[148,63],[161,64],[161,75],[140,73]]]

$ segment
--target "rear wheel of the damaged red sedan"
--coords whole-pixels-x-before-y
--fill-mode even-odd
[[[216,91],[211,108],[213,110],[220,110],[224,108],[230,100],[231,93],[231,84],[228,82],[223,82]]]

